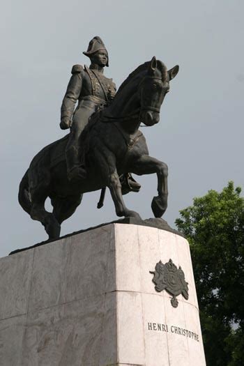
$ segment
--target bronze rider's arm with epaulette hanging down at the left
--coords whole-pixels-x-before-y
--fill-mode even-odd
[[[72,77],[68,83],[66,94],[61,105],[61,123],[60,127],[65,130],[70,127],[71,118],[75,109],[75,103],[82,90],[82,66],[75,65],[72,68]]]

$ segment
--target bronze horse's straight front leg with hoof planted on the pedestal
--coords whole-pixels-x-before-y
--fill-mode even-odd
[[[139,213],[129,210],[125,206],[121,192],[121,181],[119,180],[119,175],[116,170],[116,158],[114,154],[112,154],[111,151],[106,151],[105,154],[105,150],[103,150],[102,153],[98,153],[98,160],[103,179],[105,180],[114,201],[116,215],[119,217],[125,216],[125,218],[141,219]]]

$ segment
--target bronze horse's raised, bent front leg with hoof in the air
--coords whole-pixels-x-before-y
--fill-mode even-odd
[[[155,218],[161,218],[167,209],[168,201],[168,167],[165,162],[160,162],[148,155],[142,155],[132,166],[132,173],[143,175],[156,173],[158,176],[158,196],[153,197],[151,208]]]

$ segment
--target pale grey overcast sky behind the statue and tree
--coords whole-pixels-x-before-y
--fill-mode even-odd
[[[156,56],[180,71],[161,108],[160,123],[144,128],[150,155],[169,165],[169,207],[178,211],[233,180],[243,188],[243,0],[104,0],[1,2],[1,246],[0,257],[47,238],[17,201],[33,156],[66,134],[60,107],[70,70],[93,36],[109,51],[105,75],[116,85]],[[142,218],[153,216],[155,176],[137,177],[139,194],[125,197]],[[63,223],[61,234],[116,220],[99,192]]]

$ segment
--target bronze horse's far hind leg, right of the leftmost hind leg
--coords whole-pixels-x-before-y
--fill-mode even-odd
[[[52,213],[56,220],[61,224],[64,220],[70,218],[76,208],[82,201],[82,195],[73,195],[67,197],[52,197],[51,203],[54,208]]]

